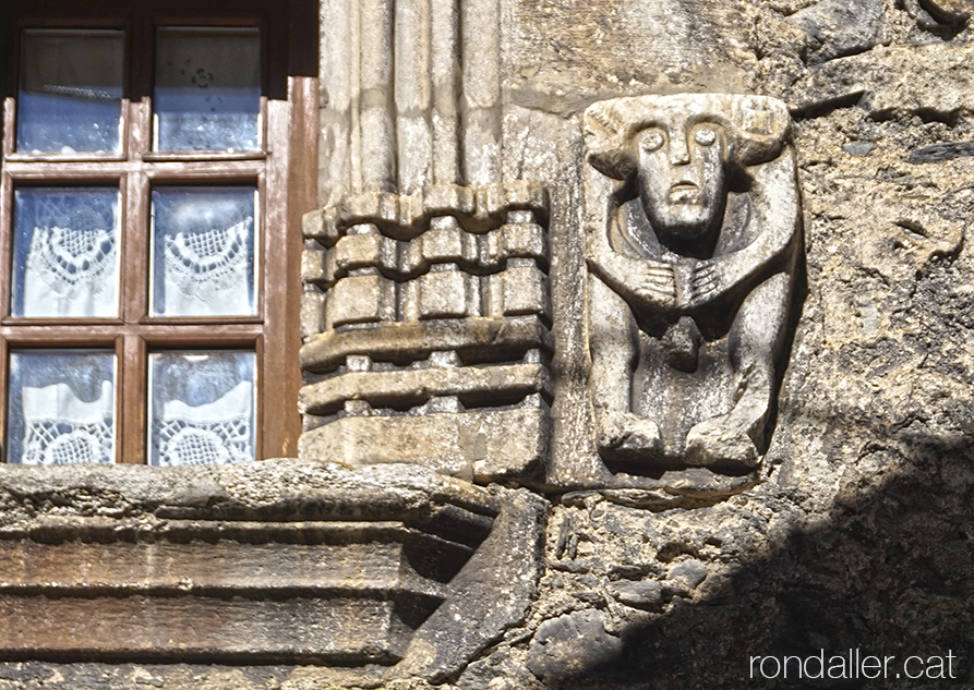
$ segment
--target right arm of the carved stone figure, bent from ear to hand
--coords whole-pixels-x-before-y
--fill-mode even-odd
[[[798,193],[795,160],[791,149],[756,170],[755,218],[761,223],[758,237],[747,246],[697,262],[690,279],[690,299],[696,307],[745,283],[778,258],[792,244],[798,227]]]

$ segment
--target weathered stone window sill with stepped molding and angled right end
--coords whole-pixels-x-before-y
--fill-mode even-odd
[[[539,498],[423,468],[0,474],[2,662],[436,677],[517,622],[539,574]]]

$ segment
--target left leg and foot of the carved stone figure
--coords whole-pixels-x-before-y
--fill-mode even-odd
[[[589,275],[589,349],[596,444],[606,460],[640,461],[662,449],[656,422],[632,412],[638,330],[629,305]]]

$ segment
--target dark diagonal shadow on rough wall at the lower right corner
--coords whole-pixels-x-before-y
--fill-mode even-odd
[[[877,435],[878,436],[878,435]],[[596,621],[568,642],[570,663],[539,665],[544,687],[588,688],[970,688],[974,680],[974,438],[899,435],[899,470],[881,485],[850,481],[822,526],[792,532],[702,601],[674,598],[658,618],[612,635]],[[892,446],[893,444],[889,444]],[[584,612],[599,618],[601,612]],[[578,617],[581,614],[573,614]],[[564,616],[545,625],[569,618]],[[536,635],[552,638],[544,626]],[[592,634],[592,644],[584,639]],[[551,640],[541,640],[551,644]],[[550,647],[551,649],[551,647]],[[751,656],[895,656],[886,679],[845,671],[831,680],[751,677]],[[566,658],[572,650],[555,651]],[[947,668],[946,655],[953,661]],[[916,655],[907,680],[902,663]],[[945,658],[942,671],[929,657]],[[536,656],[537,658],[537,656]],[[758,662],[759,663],[759,662]],[[852,664],[851,666],[855,666]],[[774,663],[766,665],[774,675]],[[809,666],[817,675],[815,664]],[[846,667],[849,668],[849,666]],[[861,665],[859,665],[859,668]],[[895,673],[900,674],[898,678]],[[938,675],[942,673],[942,678]],[[952,678],[948,674],[952,673]],[[838,670],[834,674],[839,675]]]

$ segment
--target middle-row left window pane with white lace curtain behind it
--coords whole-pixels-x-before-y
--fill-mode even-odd
[[[17,190],[11,313],[117,316],[118,238],[118,190]]]

